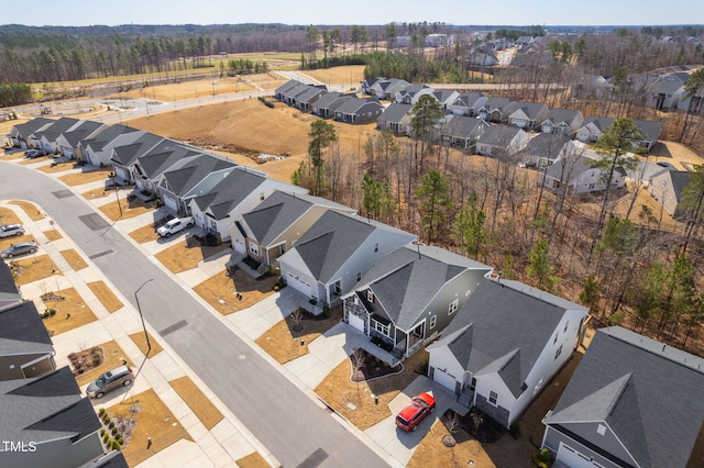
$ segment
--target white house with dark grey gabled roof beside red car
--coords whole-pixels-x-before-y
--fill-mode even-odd
[[[585,316],[549,292],[483,278],[427,348],[429,377],[508,427],[570,358]]]

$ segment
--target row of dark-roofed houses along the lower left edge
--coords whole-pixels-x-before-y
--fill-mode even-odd
[[[34,302],[0,261],[0,466],[127,468],[121,452],[106,455],[92,404],[54,356]]]

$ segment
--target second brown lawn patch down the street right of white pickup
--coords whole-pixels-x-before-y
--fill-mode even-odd
[[[246,309],[273,294],[274,283],[277,280],[278,277],[276,276],[256,280],[243,270],[238,269],[233,277],[229,277],[227,271],[221,271],[196,286],[194,291],[222,315],[228,315]],[[234,296],[238,291],[242,294],[242,300],[238,300]]]

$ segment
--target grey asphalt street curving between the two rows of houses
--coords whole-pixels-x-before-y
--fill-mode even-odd
[[[386,466],[66,186],[0,161],[0,199],[38,204],[133,305],[151,279],[145,320],[284,467]]]

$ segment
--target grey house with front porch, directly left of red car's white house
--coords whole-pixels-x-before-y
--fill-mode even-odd
[[[442,333],[491,271],[441,248],[405,245],[377,260],[342,298],[343,320],[403,360]]]

